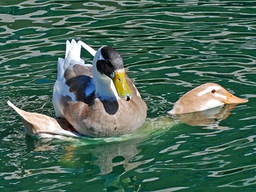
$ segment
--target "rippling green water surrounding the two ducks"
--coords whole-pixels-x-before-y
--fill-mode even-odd
[[[256,191],[255,1],[0,1],[0,191]],[[135,133],[34,139],[10,100],[54,116],[65,41],[116,48],[148,105]],[[82,52],[87,63],[92,57]],[[215,82],[248,98],[227,118],[164,117]]]

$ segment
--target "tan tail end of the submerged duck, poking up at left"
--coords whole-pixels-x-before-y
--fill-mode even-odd
[[[28,135],[42,138],[60,138],[62,135],[68,137],[82,137],[82,135],[67,131],[69,124],[64,119],[56,120],[50,116],[39,113],[25,112],[14,106],[10,101],[7,102],[15,112],[21,117],[25,131]]]

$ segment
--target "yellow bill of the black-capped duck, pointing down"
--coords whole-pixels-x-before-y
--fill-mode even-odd
[[[112,80],[119,97],[125,101],[131,100],[131,91],[125,79],[125,70],[116,70]]]

